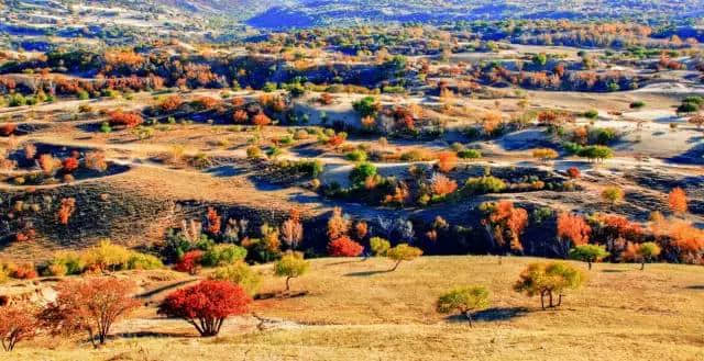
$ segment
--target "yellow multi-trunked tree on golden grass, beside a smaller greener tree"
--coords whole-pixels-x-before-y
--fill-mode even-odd
[[[529,297],[540,295],[540,305],[546,309],[546,301],[549,300],[549,307],[557,307],[562,304],[562,293],[566,290],[575,290],[584,284],[584,274],[574,267],[561,263],[531,263],[520,273],[519,280],[514,284],[514,291],[526,293]],[[554,303],[553,294],[558,294],[558,302]]]

